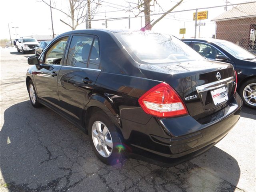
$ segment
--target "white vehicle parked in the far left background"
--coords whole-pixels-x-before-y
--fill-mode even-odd
[[[26,51],[34,52],[35,47],[39,42],[33,37],[22,37],[16,42],[16,48],[18,52],[25,54]]]

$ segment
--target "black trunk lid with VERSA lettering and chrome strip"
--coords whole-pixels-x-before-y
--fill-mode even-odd
[[[234,94],[235,74],[230,64],[193,60],[140,64],[139,69],[146,78],[172,86],[182,98],[189,114],[196,120],[227,106]]]

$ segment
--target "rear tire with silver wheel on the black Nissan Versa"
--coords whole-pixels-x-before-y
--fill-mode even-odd
[[[122,136],[103,111],[97,111],[90,116],[88,135],[92,150],[105,164],[114,165],[125,159]]]

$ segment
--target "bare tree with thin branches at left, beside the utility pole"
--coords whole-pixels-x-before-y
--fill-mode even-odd
[[[101,2],[101,0],[68,0],[68,10],[65,10],[59,8],[54,0],[52,5],[50,5],[50,2],[48,2],[48,0],[41,1],[44,2],[46,5],[50,6],[51,8],[58,10],[66,15],[68,19],[60,19],[60,21],[69,26],[72,30],[75,30],[78,25],[85,23],[88,18],[89,20],[93,19]],[[87,5],[89,5],[90,7],[88,8]]]

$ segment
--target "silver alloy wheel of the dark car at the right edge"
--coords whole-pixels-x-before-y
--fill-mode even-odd
[[[244,88],[243,98],[247,104],[256,107],[256,83],[250,83]]]

